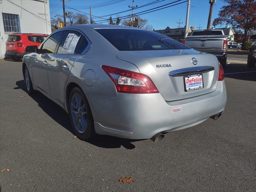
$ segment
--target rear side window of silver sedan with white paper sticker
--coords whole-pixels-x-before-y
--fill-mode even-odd
[[[58,47],[58,54],[81,54],[88,46],[86,38],[78,31],[68,30]]]

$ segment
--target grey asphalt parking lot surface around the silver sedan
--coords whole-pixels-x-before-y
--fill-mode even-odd
[[[0,172],[0,191],[255,191],[256,69],[228,58],[222,116],[156,143],[73,138],[62,108],[26,94],[21,62],[1,60],[0,169],[10,170]],[[136,181],[118,181],[130,176]]]

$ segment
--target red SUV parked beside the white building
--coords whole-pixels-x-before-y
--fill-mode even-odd
[[[40,44],[48,37],[46,34],[33,33],[15,33],[9,34],[6,41],[5,58],[12,58],[13,60],[20,60],[26,55],[26,47],[31,45],[40,46]]]

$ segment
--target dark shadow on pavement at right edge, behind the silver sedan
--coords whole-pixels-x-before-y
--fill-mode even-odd
[[[248,68],[246,64],[228,64],[224,75],[225,78],[256,81],[256,68]]]

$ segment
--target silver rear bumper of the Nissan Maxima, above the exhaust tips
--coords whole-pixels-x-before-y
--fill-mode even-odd
[[[218,82],[214,92],[166,102],[157,94],[122,94],[115,98],[90,97],[95,131],[98,134],[129,139],[148,139],[159,132],[195,126],[224,111],[225,82]],[[174,109],[179,112],[173,112]]]

